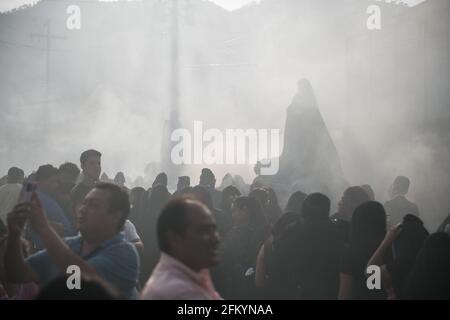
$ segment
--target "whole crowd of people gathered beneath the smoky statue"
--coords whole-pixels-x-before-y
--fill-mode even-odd
[[[370,185],[350,186],[330,212],[321,193],[297,190],[281,208],[273,189],[239,176],[216,187],[208,168],[196,186],[179,177],[173,193],[165,173],[128,189],[121,172],[101,181],[101,157],[87,150],[80,168],[45,164],[27,177],[9,169],[1,299],[450,298],[450,215],[427,230],[407,177],[384,204]]]

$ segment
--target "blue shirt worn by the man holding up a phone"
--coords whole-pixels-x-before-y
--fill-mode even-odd
[[[122,233],[105,241],[91,253],[82,256],[83,238],[65,239],[69,248],[95,268],[100,277],[113,285],[123,299],[137,298],[139,257],[135,247],[124,239]],[[47,250],[28,257],[26,262],[39,275],[41,285],[64,274],[52,261]]]

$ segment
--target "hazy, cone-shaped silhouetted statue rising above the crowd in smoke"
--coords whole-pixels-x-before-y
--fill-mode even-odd
[[[320,191],[335,200],[346,187],[340,159],[323,121],[308,80],[298,82],[298,90],[287,108],[284,146],[279,171],[256,180],[272,187],[284,205],[293,184],[305,192]]]

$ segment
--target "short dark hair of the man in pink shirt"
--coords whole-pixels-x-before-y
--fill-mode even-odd
[[[167,240],[169,231],[182,235],[189,226],[188,213],[194,208],[208,208],[200,201],[189,198],[177,198],[170,201],[161,211],[158,217],[156,232],[158,246],[162,252],[170,253],[170,245]]]

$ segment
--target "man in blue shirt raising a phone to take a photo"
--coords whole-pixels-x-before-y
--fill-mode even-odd
[[[11,283],[43,285],[78,266],[82,277],[100,277],[118,289],[121,298],[137,297],[139,258],[120,232],[128,217],[128,195],[109,183],[97,184],[77,212],[80,235],[62,239],[51,227],[36,192],[8,214],[6,277]],[[24,259],[20,239],[26,222],[40,237],[44,250]],[[83,288],[81,288],[82,290]]]

